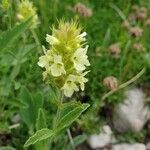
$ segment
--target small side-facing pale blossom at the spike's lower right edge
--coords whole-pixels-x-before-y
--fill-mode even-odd
[[[86,71],[82,73],[81,75],[77,76],[77,82],[80,84],[81,90],[84,91],[84,84],[88,82],[88,79],[86,79],[84,76],[88,73],[89,71]]]

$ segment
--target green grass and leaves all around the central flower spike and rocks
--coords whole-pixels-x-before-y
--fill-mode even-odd
[[[143,36],[134,38],[122,27],[122,21],[128,18],[135,4],[146,7],[150,18],[149,2],[142,0],[31,1],[37,8],[40,20],[40,24],[32,32],[29,29],[31,19],[18,24],[16,17],[18,0],[0,2],[3,4],[1,6],[4,6],[4,2],[9,2],[6,3],[7,9],[0,9],[0,133],[10,134],[10,139],[0,141],[2,143],[0,150],[12,149],[8,146],[3,147],[5,145],[21,150],[30,136],[25,146],[31,146],[25,149],[69,150],[71,144],[66,129],[71,128],[73,142],[75,146],[79,145],[85,141],[84,135],[87,133],[99,132],[99,128],[104,124],[112,125],[114,107],[125,99],[126,87],[102,100],[102,97],[109,92],[103,85],[105,77],[115,76],[118,84],[121,85],[136,76],[142,68],[146,68],[145,73],[131,85],[138,85],[144,91],[149,91],[150,28],[145,22],[133,22],[133,26],[143,29]],[[92,17],[86,18],[75,13],[73,7],[78,2],[92,10]],[[43,54],[41,45],[47,44],[45,35],[50,33],[50,27],[53,24],[57,26],[58,20],[62,18],[65,21],[77,19],[83,31],[87,32],[88,56],[91,63],[88,68],[90,73],[87,75],[89,81],[85,86],[86,90],[74,94],[73,101],[64,99],[63,104],[60,101],[59,89],[53,84],[49,86],[49,82],[45,84],[42,81],[42,69],[37,65],[39,56]],[[121,53],[118,58],[113,57],[109,51],[109,46],[113,43],[120,44]],[[144,46],[143,51],[134,50],[134,43],[141,43]],[[76,100],[81,103],[75,102]],[[89,109],[86,103],[90,104]],[[150,106],[149,101],[147,105]],[[20,114],[20,119],[14,122],[12,118],[16,114]],[[10,126],[15,124],[20,126],[10,130]],[[144,127],[144,131],[137,134],[117,132],[114,134],[118,141],[132,143],[145,141],[149,133]]]

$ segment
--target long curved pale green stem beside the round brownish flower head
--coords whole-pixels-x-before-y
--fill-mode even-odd
[[[120,89],[125,88],[126,86],[130,85],[131,83],[133,83],[134,81],[136,81],[138,78],[140,78],[144,72],[146,71],[145,68],[143,68],[136,76],[134,76],[132,79],[130,79],[129,81],[121,84],[117,89],[111,90],[108,93],[106,93],[103,97],[102,100],[105,100],[107,97],[109,97],[110,95],[112,95],[113,93],[115,93],[116,91],[119,91]]]

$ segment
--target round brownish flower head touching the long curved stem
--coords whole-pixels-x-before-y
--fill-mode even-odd
[[[118,88],[118,81],[115,77],[109,76],[104,78],[103,85],[109,90],[115,90]]]

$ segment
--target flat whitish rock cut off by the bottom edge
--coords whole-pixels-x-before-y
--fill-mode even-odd
[[[135,144],[117,144],[112,146],[112,150],[146,150],[146,146],[142,143]]]

